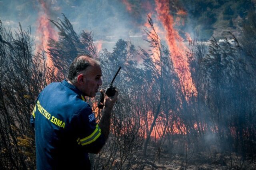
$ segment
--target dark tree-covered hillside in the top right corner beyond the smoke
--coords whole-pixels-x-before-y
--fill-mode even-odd
[[[198,30],[202,39],[228,37],[228,32],[240,36],[242,22],[255,4],[255,0],[182,0],[181,6],[188,12],[184,29]]]

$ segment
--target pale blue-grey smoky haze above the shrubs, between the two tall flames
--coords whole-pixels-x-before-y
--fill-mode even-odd
[[[0,0],[2,26],[13,30],[20,22],[23,29],[31,26],[33,36],[40,15],[47,14],[48,18],[58,20],[63,18],[61,13],[70,20],[76,32],[92,31],[95,41],[113,41],[113,45],[120,38],[142,39],[144,27],[138,22],[147,19],[146,13],[135,18],[122,0]]]

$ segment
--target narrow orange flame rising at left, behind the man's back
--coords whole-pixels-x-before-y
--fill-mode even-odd
[[[58,40],[58,33],[56,30],[54,30],[50,24],[50,21],[48,20],[48,8],[46,6],[46,3],[43,0],[39,0],[42,10],[38,13],[38,28],[36,30],[37,35],[37,41],[36,41],[36,52],[40,51],[40,49],[43,49],[44,51],[48,51],[48,44],[47,40],[48,38],[52,38],[53,40]],[[48,54],[46,54],[47,57],[47,64],[50,67],[53,67],[52,59]],[[55,70],[55,75],[58,70]]]

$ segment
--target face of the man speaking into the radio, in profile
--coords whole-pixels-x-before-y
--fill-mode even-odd
[[[100,85],[102,85],[100,66],[89,66],[82,74],[84,75],[84,83],[80,90],[85,96],[95,97]]]

